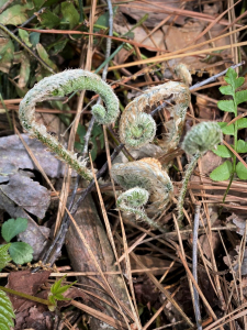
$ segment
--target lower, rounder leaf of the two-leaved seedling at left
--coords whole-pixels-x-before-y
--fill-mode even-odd
[[[11,244],[9,251],[13,262],[18,265],[23,265],[33,260],[33,249],[27,243],[14,242]]]

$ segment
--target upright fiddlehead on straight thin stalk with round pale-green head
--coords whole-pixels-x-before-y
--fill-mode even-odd
[[[205,154],[209,150],[214,148],[222,142],[223,135],[220,125],[216,122],[201,122],[194,125],[186,135],[182,142],[184,152],[192,156],[191,162],[188,164],[182,188],[178,199],[178,223],[182,227],[183,218],[183,202],[187,194],[187,187],[190,176],[198,163],[198,160]]]

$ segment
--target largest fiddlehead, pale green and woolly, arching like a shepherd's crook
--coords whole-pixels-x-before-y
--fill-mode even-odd
[[[35,121],[35,106],[37,102],[42,102],[48,97],[63,97],[82,89],[99,94],[105,103],[106,110],[101,105],[92,107],[92,113],[97,122],[101,124],[113,123],[119,116],[119,99],[111,87],[99,76],[82,69],[66,70],[42,79],[21,101],[19,117],[23,128],[32,136],[46,144],[60,161],[69,164],[85,179],[92,179],[92,174],[86,167],[86,163],[80,162],[76,154],[67,151],[56,138],[48,134],[45,125]]]

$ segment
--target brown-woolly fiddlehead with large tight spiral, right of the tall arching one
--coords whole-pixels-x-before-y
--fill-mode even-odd
[[[166,144],[169,151],[175,148],[180,140],[187,108],[190,103],[189,87],[177,81],[151,87],[127,105],[120,120],[121,142],[128,147],[141,147],[151,142],[156,134],[156,123],[145,111],[166,100],[173,103],[168,108],[172,120],[166,123],[168,130]]]

